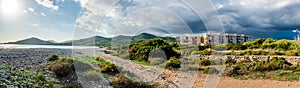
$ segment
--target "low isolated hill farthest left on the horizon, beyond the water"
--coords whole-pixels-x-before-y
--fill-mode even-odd
[[[53,45],[55,43],[52,43],[50,41],[44,41],[35,37],[24,39],[24,40],[19,40],[16,42],[8,42],[5,44],[30,44],[30,45]]]

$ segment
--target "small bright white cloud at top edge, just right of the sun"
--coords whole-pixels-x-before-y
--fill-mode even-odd
[[[35,0],[38,4],[47,7],[47,8],[51,8],[52,10],[58,10],[58,6],[54,5],[52,0]]]

